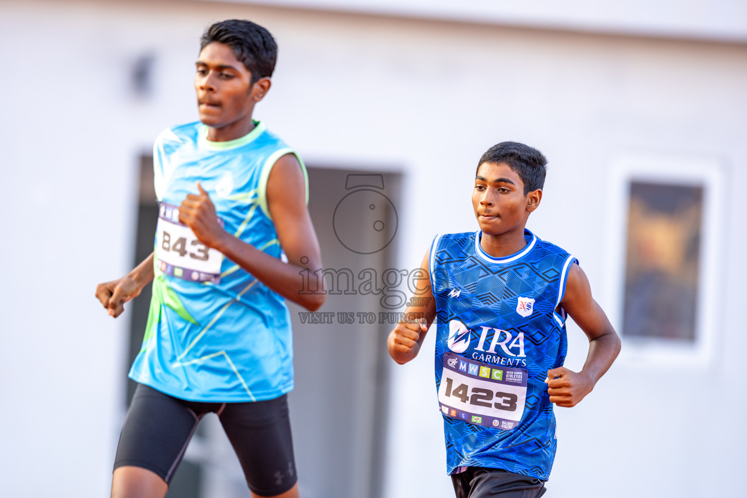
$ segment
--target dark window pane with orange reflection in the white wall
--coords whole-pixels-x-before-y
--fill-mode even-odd
[[[703,187],[630,182],[622,334],[695,340]]]

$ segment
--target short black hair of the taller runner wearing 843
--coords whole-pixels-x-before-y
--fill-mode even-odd
[[[231,47],[236,58],[252,73],[252,84],[259,78],[273,75],[278,46],[270,31],[260,25],[244,19],[216,22],[200,37],[200,52],[213,42]]]

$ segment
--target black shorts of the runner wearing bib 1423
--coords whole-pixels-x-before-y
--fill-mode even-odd
[[[547,489],[545,481],[507,470],[467,467],[451,475],[456,498],[539,498]]]

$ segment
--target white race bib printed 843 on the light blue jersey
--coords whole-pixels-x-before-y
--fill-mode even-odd
[[[223,220],[218,218],[223,226]],[[200,242],[191,228],[179,222],[179,208],[158,203],[155,264],[162,272],[190,281],[220,281],[223,254]]]

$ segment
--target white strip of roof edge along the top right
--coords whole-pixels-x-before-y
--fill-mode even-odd
[[[232,0],[578,31],[747,40],[742,0]]]

